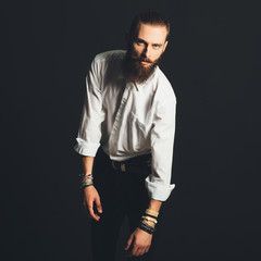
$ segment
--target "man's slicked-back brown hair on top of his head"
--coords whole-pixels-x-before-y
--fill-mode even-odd
[[[142,13],[137,14],[129,28],[129,37],[130,39],[135,39],[138,34],[138,29],[140,24],[150,24],[150,25],[161,25],[166,27],[166,40],[170,35],[170,23],[163,16],[161,13],[153,11],[153,10],[148,10]]]

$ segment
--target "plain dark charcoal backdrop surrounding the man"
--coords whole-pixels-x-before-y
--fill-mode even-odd
[[[73,150],[85,75],[147,8],[172,23],[161,69],[177,97],[176,188],[154,260],[261,256],[258,2],[1,4],[1,260],[91,260]]]

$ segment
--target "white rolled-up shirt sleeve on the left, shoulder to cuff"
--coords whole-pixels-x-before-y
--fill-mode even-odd
[[[77,135],[75,151],[95,157],[100,147],[101,123],[104,120],[100,84],[100,65],[94,60],[86,77],[86,97]]]

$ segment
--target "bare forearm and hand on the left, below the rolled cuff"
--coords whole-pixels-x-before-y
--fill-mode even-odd
[[[83,157],[83,174],[92,174],[95,157]],[[99,213],[102,213],[100,196],[94,185],[84,188],[84,206],[88,209],[90,216],[99,221],[100,216],[94,212],[94,203],[96,203]]]

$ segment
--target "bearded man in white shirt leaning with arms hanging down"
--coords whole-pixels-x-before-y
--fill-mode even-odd
[[[84,204],[92,217],[95,260],[114,260],[125,216],[129,260],[150,260],[159,211],[174,188],[175,96],[158,66],[169,33],[158,12],[138,14],[127,51],[98,54],[86,78],[75,150],[84,156]]]

